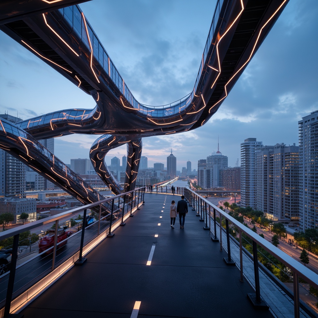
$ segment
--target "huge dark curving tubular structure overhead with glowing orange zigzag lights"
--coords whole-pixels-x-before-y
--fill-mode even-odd
[[[102,135],[93,143],[90,159],[101,179],[115,194],[120,194],[135,187],[141,138],[180,133],[204,125],[218,110],[288,0],[218,0],[192,91],[182,100],[154,107],[135,99],[79,6],[66,7],[84,1],[43,0],[41,5],[39,2],[4,1],[0,5],[3,12],[0,29],[90,94],[96,106],[57,110],[15,124],[28,142],[16,138],[20,145],[16,147],[18,151],[13,151],[14,156],[19,159],[24,156],[21,159],[24,161],[29,147],[34,150],[32,145],[37,139],[69,134]],[[13,146],[7,139],[8,135],[1,135],[0,147],[10,151]],[[104,162],[110,149],[123,144],[128,149],[124,187]],[[41,156],[41,150],[33,153],[33,166]],[[43,172],[41,167],[38,171]],[[48,177],[70,191],[67,186],[70,174]],[[77,196],[80,201],[90,203],[86,194],[82,194],[83,184],[73,184],[73,190],[81,193]]]

